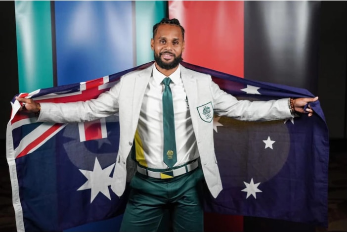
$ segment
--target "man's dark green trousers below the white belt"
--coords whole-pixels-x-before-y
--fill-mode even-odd
[[[169,213],[174,232],[203,232],[201,168],[171,179],[136,173],[126,206],[121,232],[157,232]]]

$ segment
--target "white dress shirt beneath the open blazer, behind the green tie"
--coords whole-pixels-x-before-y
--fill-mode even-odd
[[[144,94],[135,134],[137,162],[144,167],[155,169],[168,168],[163,161],[164,130],[162,94],[164,85],[162,81],[166,77],[154,65],[152,77]],[[175,140],[177,149],[177,162],[175,166],[180,166],[198,158],[199,152],[189,113],[187,95],[180,77],[180,68],[178,67],[169,77],[172,80],[170,88],[175,113]]]

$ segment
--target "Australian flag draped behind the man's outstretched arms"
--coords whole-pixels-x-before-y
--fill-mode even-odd
[[[128,72],[84,83],[41,89],[20,96],[38,102],[73,102],[97,97]],[[241,99],[312,97],[304,89],[241,79],[182,62],[210,74],[219,87]],[[128,191],[111,189],[119,146],[119,118],[57,124],[37,122],[11,101],[6,154],[17,231],[64,231],[120,215]],[[329,140],[319,101],[312,117],[271,122],[214,118],[215,149],[223,190],[205,194],[205,211],[327,226]],[[127,189],[128,190],[128,189]]]

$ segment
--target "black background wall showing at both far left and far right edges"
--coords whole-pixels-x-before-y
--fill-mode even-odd
[[[320,65],[319,72],[314,74],[318,76],[316,91],[320,96],[321,106],[327,118],[331,142],[343,142],[339,144],[331,143],[331,148],[335,149],[338,149],[338,146],[341,146],[340,149],[345,149],[345,141],[347,140],[346,6],[345,1],[323,1],[321,3],[321,33],[318,56]],[[6,77],[4,82],[9,82],[1,92],[3,114],[0,118],[0,139],[4,140],[11,109],[9,101],[14,94],[19,93],[13,1],[2,1],[0,3],[0,17],[1,28],[3,29],[3,33],[1,33],[0,66],[2,76]],[[336,109],[336,111],[332,109]]]

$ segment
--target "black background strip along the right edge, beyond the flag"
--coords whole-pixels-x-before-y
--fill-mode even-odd
[[[347,151],[347,1],[321,1],[319,97],[330,150]]]

